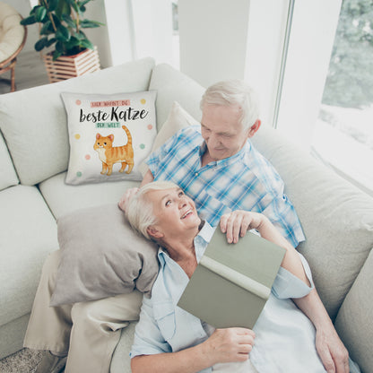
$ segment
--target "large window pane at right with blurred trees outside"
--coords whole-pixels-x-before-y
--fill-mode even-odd
[[[343,0],[312,153],[373,195],[373,2]]]

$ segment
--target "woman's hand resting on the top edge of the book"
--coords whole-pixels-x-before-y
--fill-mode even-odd
[[[244,237],[247,230],[259,230],[267,218],[262,213],[251,213],[237,210],[221,216],[221,231],[227,234],[229,243],[239,242],[239,237]]]

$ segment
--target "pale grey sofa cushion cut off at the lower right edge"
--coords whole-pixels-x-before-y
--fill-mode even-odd
[[[335,328],[360,369],[373,367],[373,249],[335,319]]]

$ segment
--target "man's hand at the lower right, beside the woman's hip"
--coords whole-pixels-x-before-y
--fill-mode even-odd
[[[316,333],[316,348],[328,373],[349,373],[349,352],[344,347],[335,329]]]

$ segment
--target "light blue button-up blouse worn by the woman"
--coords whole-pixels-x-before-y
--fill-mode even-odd
[[[204,228],[195,237],[198,262],[204,255],[213,231],[205,222]],[[199,318],[177,306],[189,281],[184,270],[161,248],[158,257],[160,273],[152,288],[152,298],[143,298],[131,358],[184,350],[203,343],[211,334],[208,332],[211,327],[206,328]],[[260,373],[299,373],[306,371],[304,369],[312,373],[325,372],[315,347],[315,328],[291,300],[304,297],[314,286],[308,263],[303,256],[300,257],[312,287],[309,288],[296,276],[280,268],[270,298],[253,329],[256,339],[249,356]],[[212,371],[213,368],[202,370],[204,373]]]

